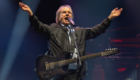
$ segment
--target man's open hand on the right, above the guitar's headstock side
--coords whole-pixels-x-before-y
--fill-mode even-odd
[[[120,16],[120,14],[121,14],[122,11],[123,11],[123,8],[120,8],[120,9],[115,8],[115,9],[113,9],[113,10],[111,11],[111,14],[108,16],[108,18],[109,18],[110,20],[113,20],[114,18]]]

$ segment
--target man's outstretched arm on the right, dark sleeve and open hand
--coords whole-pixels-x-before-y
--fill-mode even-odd
[[[110,15],[107,19],[105,19],[101,24],[98,24],[92,28],[84,29],[85,31],[85,39],[95,38],[98,35],[105,32],[105,30],[110,26],[111,21],[120,16],[121,12],[123,11],[122,8],[118,9],[115,8],[111,11]]]

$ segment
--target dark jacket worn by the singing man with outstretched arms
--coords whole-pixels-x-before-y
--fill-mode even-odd
[[[34,30],[38,33],[43,34],[47,37],[50,42],[50,51],[55,56],[60,55],[65,51],[74,50],[74,41],[71,39],[71,44],[69,43],[69,38],[65,26],[53,23],[50,25],[43,24],[40,22],[35,15],[29,18],[31,25]],[[109,27],[111,21],[107,18],[101,24],[98,24],[92,28],[75,28],[75,37],[77,41],[78,50],[81,56],[85,55],[85,43],[86,40],[92,39],[104,33]],[[73,38],[71,36],[71,38]],[[82,61],[82,67],[80,67],[81,78],[85,76],[86,61]]]

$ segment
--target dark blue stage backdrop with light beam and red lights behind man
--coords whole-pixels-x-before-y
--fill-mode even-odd
[[[20,1],[31,6],[45,24],[55,23],[57,9],[68,4],[76,25],[84,28],[101,23],[114,8],[123,8],[107,31],[86,46],[87,54],[110,47],[121,53],[87,60],[84,80],[140,80],[139,0],[0,0],[0,80],[35,80],[36,58],[48,50],[47,39],[34,32],[28,14],[19,8]]]

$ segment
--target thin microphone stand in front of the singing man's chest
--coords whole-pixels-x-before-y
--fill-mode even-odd
[[[74,25],[75,26],[75,25]],[[75,44],[75,48],[76,48],[76,53],[77,53],[77,70],[76,70],[76,73],[77,73],[77,80],[80,80],[79,76],[79,64],[82,65],[81,63],[81,58],[80,58],[80,54],[79,54],[79,50],[78,50],[78,46],[77,46],[77,42],[76,42],[76,37],[75,37],[75,30],[73,28],[73,25],[70,26],[70,32],[72,33],[73,35],[73,39],[74,39],[74,44]]]

